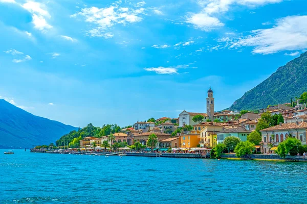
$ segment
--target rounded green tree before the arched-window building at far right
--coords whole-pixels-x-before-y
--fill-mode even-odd
[[[298,146],[300,145],[301,145],[301,142],[298,139],[288,137],[286,140],[278,144],[276,153],[281,158],[285,158],[286,155],[288,155],[289,153],[291,156],[295,156],[297,155]]]

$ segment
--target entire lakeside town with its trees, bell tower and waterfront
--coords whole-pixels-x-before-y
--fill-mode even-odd
[[[246,157],[251,154],[305,157],[307,151],[307,93],[296,101],[261,110],[214,112],[211,87],[206,98],[207,112],[183,111],[178,118],[149,118],[121,128],[94,127],[91,123],[62,136],[56,145],[32,150],[73,152],[159,152]]]

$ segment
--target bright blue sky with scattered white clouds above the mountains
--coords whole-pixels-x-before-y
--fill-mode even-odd
[[[0,0],[0,98],[74,126],[215,111],[307,49],[305,0]]]

